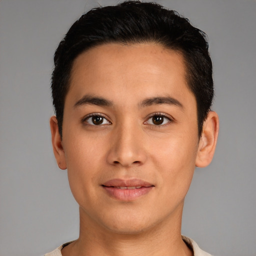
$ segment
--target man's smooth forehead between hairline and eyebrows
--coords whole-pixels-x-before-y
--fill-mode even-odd
[[[122,103],[130,95],[146,98],[171,94],[181,98],[190,93],[185,77],[183,57],[178,51],[153,43],[108,43],[76,57],[67,94],[78,100],[83,94],[96,93]]]

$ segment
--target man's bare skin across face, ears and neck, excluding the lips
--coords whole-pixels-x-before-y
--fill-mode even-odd
[[[91,114],[103,122],[95,125]],[[62,255],[192,255],[180,235],[183,202],[195,166],[213,157],[218,117],[209,112],[198,139],[196,101],[179,52],[109,43],[81,53],[65,98],[62,140],[55,116],[50,127],[80,214],[79,238]],[[152,187],[116,199],[102,186],[115,178]]]

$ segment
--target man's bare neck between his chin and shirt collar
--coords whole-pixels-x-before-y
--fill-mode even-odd
[[[164,223],[133,233],[119,233],[98,228],[98,223],[80,209],[79,238],[61,250],[62,256],[192,256],[181,238],[181,214],[182,209],[178,216]]]

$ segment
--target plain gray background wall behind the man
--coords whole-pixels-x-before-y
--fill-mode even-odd
[[[78,236],[78,207],[55,164],[52,56],[83,11],[116,0],[0,0],[0,255],[34,256]],[[158,0],[209,37],[220,117],[196,169],[182,233],[215,255],[256,254],[256,1]]]

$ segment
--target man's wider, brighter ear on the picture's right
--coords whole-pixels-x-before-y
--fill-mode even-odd
[[[216,112],[210,111],[203,122],[202,134],[195,159],[196,167],[205,167],[211,162],[217,143],[218,128],[218,115]]]

